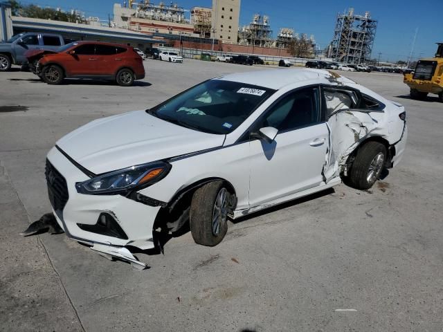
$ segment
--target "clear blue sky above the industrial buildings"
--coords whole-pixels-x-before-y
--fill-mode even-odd
[[[163,0],[169,3],[168,0]],[[112,15],[115,0],[22,0],[39,6],[60,6],[64,10],[75,8],[87,16],[107,19]],[[159,3],[160,0],[152,0]],[[176,0],[179,6],[212,6],[212,0]],[[123,3],[123,0],[121,0]],[[248,24],[252,15],[259,13],[270,17],[274,35],[282,27],[294,28],[296,33],[314,35],[320,48],[331,41],[338,12],[354,7],[354,13],[364,15],[368,10],[372,18],[379,21],[372,57],[381,61],[407,59],[418,28],[413,56],[431,57],[435,53],[435,42],[443,42],[443,0],[242,0],[240,25]]]

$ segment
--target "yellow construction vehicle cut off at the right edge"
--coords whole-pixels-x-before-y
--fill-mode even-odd
[[[443,102],[443,43],[437,43],[435,57],[420,59],[415,71],[404,75],[410,88],[410,98],[424,100],[428,93],[438,95]]]

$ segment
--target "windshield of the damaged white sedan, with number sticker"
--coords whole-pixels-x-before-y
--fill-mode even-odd
[[[251,84],[208,80],[147,113],[182,127],[226,134],[242,124],[274,92]]]

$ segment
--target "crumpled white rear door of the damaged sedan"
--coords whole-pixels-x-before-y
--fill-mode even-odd
[[[340,175],[352,151],[381,131],[385,105],[360,91],[343,86],[323,86],[329,147],[323,167],[328,183]]]

